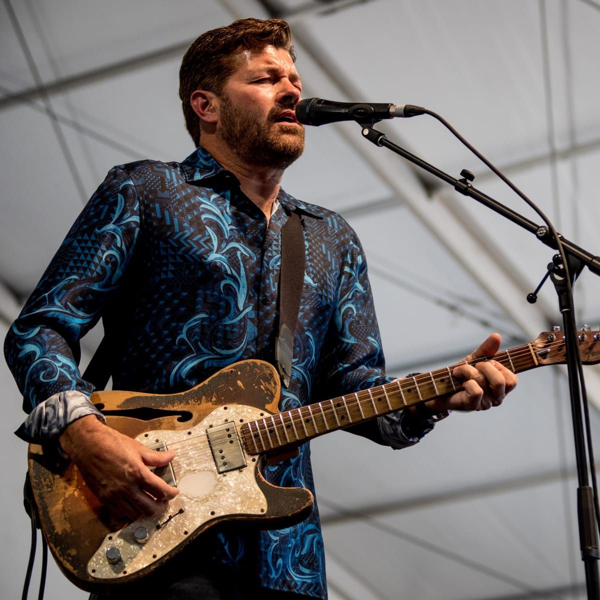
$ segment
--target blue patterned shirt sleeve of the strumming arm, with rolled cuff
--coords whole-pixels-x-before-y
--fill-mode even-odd
[[[133,179],[122,167],[114,167],[11,325],[4,354],[23,394],[23,410],[31,413],[41,407],[19,428],[20,437],[43,441],[62,433],[84,412],[97,413],[88,400],[93,386],[79,372],[79,341],[98,322],[107,298],[117,289],[139,224]],[[67,391],[78,394],[62,394]]]

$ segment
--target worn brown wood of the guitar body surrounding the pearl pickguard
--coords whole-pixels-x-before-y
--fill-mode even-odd
[[[107,391],[94,393],[92,401],[109,413],[107,424],[110,427],[127,436],[138,437],[152,430],[187,432],[218,407],[232,407],[234,404],[254,407],[259,414],[264,411],[276,412],[279,395],[280,383],[272,365],[262,361],[244,361],[219,371],[202,384],[181,394],[152,395]],[[128,413],[148,408],[189,413],[191,419],[185,422],[178,421],[177,414],[150,420],[110,415],[117,411]],[[148,411],[145,412],[148,415]],[[261,527],[269,528],[289,523],[290,520],[301,521],[310,514],[313,506],[310,491],[302,488],[283,490],[275,487],[260,475],[258,461],[250,462],[250,465],[246,470],[251,472],[251,477],[266,500],[265,512],[216,515],[215,518],[209,518],[200,524],[196,530],[189,531],[185,539],[178,544],[176,551],[151,561],[141,571],[115,580],[98,580],[88,573],[88,562],[107,536],[119,532],[127,526],[128,521],[113,517],[100,505],[86,487],[77,467],[70,463],[57,463],[53,458],[44,455],[41,446],[29,446],[29,475],[43,535],[64,574],[74,584],[88,591],[107,589],[121,580],[133,581],[150,574],[209,526],[220,521],[259,521]],[[184,494],[180,493],[175,500],[181,500],[180,497],[183,496]]]

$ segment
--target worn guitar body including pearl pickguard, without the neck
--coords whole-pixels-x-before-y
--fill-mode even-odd
[[[235,433],[242,422],[277,413],[279,396],[277,371],[262,361],[231,365],[181,394],[92,395],[110,427],[176,451],[157,474],[177,485],[178,496],[164,514],[133,523],[101,506],[73,464],[56,463],[41,446],[29,446],[43,534],[64,574],[82,589],[106,590],[149,575],[217,523],[243,519],[269,529],[306,518],[310,491],[265,481],[260,456],[248,454]]]

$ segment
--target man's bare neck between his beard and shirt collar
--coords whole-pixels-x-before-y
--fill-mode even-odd
[[[273,203],[279,193],[284,169],[249,164],[214,137],[205,139],[203,136],[202,146],[224,169],[231,171],[239,179],[242,192],[263,212],[268,223],[273,211]]]

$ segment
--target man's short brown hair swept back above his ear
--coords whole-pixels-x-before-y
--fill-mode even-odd
[[[282,19],[240,19],[207,31],[188,48],[179,69],[179,98],[185,127],[196,146],[200,145],[200,124],[190,104],[192,92],[205,89],[221,95],[235,71],[236,54],[241,50],[262,50],[265,46],[283,48],[296,60],[290,26]]]

